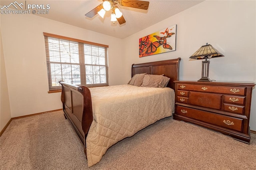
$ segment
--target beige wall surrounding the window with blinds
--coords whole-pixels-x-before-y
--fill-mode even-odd
[[[122,40],[30,14],[1,15],[11,116],[61,109],[60,93],[48,94],[43,32],[109,45],[109,83],[122,82]]]

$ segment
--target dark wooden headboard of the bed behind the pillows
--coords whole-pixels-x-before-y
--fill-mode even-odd
[[[175,88],[174,82],[179,80],[181,58],[168,59],[163,61],[154,61],[149,63],[140,63],[132,65],[132,76],[140,73],[156,74],[169,77],[170,81],[167,87]]]

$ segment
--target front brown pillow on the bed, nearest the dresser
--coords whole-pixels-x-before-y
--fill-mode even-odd
[[[170,78],[163,75],[152,75],[146,74],[143,77],[141,87],[160,87],[164,88],[167,86]]]

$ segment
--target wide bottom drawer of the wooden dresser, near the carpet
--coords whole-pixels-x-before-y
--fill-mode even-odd
[[[242,131],[243,119],[218,115],[215,113],[200,111],[182,106],[177,106],[176,114],[182,115],[184,117],[189,117],[191,119],[196,119],[198,121],[202,121],[208,124],[229,128],[232,130],[237,130],[239,132]]]

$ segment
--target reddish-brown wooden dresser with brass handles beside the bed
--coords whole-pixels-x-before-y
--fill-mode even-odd
[[[250,107],[254,83],[174,81],[173,119],[227,134],[250,144]]]

